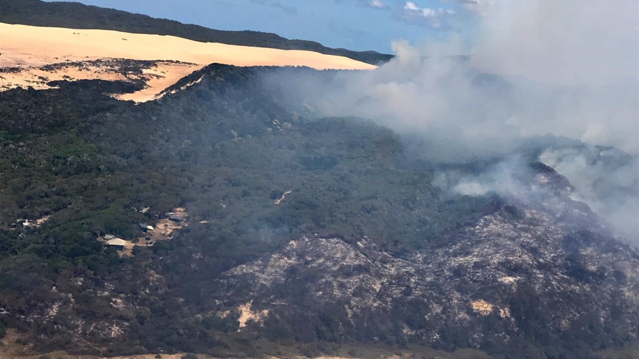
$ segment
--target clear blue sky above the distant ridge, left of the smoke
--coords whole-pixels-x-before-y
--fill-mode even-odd
[[[468,33],[478,0],[81,0],[221,30],[256,30],[328,47],[390,53],[392,40]]]

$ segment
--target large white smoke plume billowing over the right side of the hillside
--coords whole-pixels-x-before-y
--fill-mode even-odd
[[[487,3],[477,11],[481,24],[470,53],[459,34],[420,47],[396,42],[397,56],[377,70],[337,73],[330,80],[296,77],[284,86],[324,114],[371,118],[421,137],[422,155],[433,162],[506,158],[544,135],[639,155],[639,3],[478,4]],[[461,54],[466,56],[456,56]],[[612,171],[602,165],[605,156],[593,162],[577,149],[573,155],[557,151],[548,149],[541,160],[573,181],[581,197],[623,233],[634,230],[629,223],[636,229],[637,160]],[[481,194],[494,183],[509,185],[507,178],[495,178],[455,188]]]

